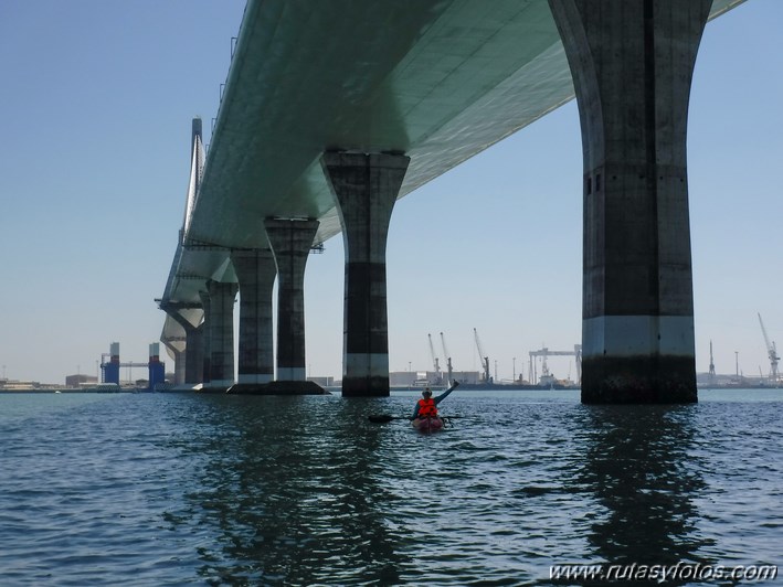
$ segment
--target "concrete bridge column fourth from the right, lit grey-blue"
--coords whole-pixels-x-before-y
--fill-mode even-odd
[[[240,281],[239,384],[269,383],[274,378],[272,288],[275,259],[266,248],[233,250],[231,263]]]

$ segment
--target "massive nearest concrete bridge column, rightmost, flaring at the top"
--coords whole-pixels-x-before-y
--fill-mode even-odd
[[[712,1],[549,3],[582,126],[582,402],[696,402],[686,132]]]

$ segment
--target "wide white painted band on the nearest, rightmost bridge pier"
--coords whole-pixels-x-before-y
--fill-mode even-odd
[[[694,356],[692,316],[601,316],[582,321],[582,357]]]

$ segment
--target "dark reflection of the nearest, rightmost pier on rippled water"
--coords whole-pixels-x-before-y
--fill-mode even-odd
[[[707,563],[695,498],[706,489],[689,455],[692,406],[585,406],[580,482],[604,513],[590,525],[597,561]],[[594,561],[594,562],[597,562]]]

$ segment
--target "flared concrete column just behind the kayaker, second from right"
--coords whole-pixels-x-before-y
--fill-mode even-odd
[[[410,158],[326,152],[346,249],[343,396],[389,395],[387,236]]]

